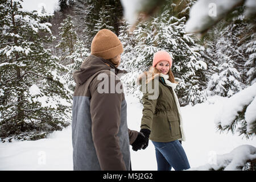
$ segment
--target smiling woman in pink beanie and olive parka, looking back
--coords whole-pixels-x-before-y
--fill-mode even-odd
[[[177,82],[171,71],[172,59],[168,52],[159,51],[154,55],[152,67],[139,76],[143,92],[143,116],[141,133],[155,146],[159,171],[190,168],[181,142],[185,140],[180,105],[174,89]],[[148,86],[151,85],[151,86]],[[152,88],[151,88],[152,87]],[[154,92],[150,92],[150,89]],[[154,96],[157,92],[156,97]],[[143,145],[143,149],[146,148]]]

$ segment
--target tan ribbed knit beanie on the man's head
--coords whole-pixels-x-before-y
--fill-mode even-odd
[[[112,59],[123,52],[123,46],[114,32],[102,29],[92,40],[90,53],[103,59]]]

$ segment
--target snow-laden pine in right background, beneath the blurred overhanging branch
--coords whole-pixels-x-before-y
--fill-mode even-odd
[[[247,25],[242,21],[242,16],[233,18],[230,22],[222,20],[210,32],[214,39],[207,40],[209,47],[205,53],[209,57],[209,69],[212,72],[207,89],[212,94],[231,97],[245,88],[247,56],[241,37]]]

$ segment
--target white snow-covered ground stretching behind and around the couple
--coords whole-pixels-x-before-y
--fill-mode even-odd
[[[133,96],[126,96],[127,121],[132,130],[139,130],[142,105]],[[193,168],[209,162],[213,154],[226,154],[242,144],[256,147],[256,139],[220,134],[214,116],[225,98],[209,97],[207,102],[181,107],[187,140],[182,143]],[[155,149],[150,142],[146,150],[131,150],[133,170],[156,170]],[[0,170],[72,170],[71,126],[56,131],[46,139],[0,143]]]

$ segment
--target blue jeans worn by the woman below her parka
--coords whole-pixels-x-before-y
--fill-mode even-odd
[[[178,140],[172,142],[154,142],[158,171],[175,171],[189,169],[189,162],[183,147]]]

